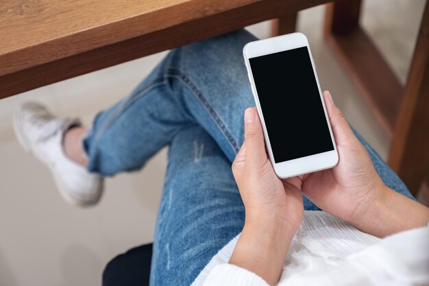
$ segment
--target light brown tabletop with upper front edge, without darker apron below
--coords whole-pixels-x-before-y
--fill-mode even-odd
[[[3,0],[0,75],[256,2]]]

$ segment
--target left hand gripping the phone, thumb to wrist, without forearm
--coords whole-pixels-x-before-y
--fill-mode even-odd
[[[301,182],[282,181],[275,175],[256,108],[245,110],[245,141],[232,163],[232,171],[247,219],[275,219],[292,228],[299,227],[303,213]]]

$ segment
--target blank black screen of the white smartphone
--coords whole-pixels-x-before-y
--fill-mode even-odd
[[[334,150],[307,47],[249,62],[275,163]]]

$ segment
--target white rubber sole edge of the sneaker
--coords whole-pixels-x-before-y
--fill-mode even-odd
[[[32,148],[30,147],[31,143],[29,143],[27,136],[25,136],[25,133],[23,132],[23,126],[21,124],[20,118],[21,118],[21,109],[18,109],[14,112],[14,124],[13,124],[16,138],[18,139],[19,145],[23,147],[25,152],[27,152],[28,154],[36,158],[37,156],[34,154]],[[82,198],[78,198],[77,196],[72,195],[69,191],[66,191],[66,187],[64,187],[64,184],[59,179],[59,176],[57,176],[56,171],[54,171],[49,165],[46,165],[46,166],[48,167],[49,171],[51,171],[51,174],[53,176],[53,181],[55,182],[58,191],[60,191],[60,195],[66,202],[68,202],[69,204],[73,204],[74,206],[80,206],[80,207],[92,206],[97,202],[99,202],[99,199],[101,198],[101,193],[102,193],[101,189],[103,189],[103,182],[99,183],[99,189],[97,190],[97,193],[100,193],[100,195],[97,198],[95,198],[94,200],[82,200]]]

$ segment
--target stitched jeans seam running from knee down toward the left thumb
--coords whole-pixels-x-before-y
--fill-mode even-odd
[[[177,71],[177,69],[169,69],[167,73],[165,74],[166,77],[169,78],[177,78],[177,80],[180,80],[188,88],[191,93],[195,96],[195,98],[201,103],[201,105],[206,109],[208,114],[210,115],[210,119],[216,124],[217,128],[221,131],[223,136],[225,136],[225,139],[228,141],[230,146],[232,147],[232,150],[234,152],[238,152],[238,146],[236,145],[236,142],[234,138],[232,138],[232,135],[230,134],[228,128],[226,128],[225,123],[223,123],[215,112],[215,110],[208,104],[207,99],[202,95],[202,93],[197,89],[197,87],[189,80],[189,78],[186,77],[183,73],[180,71]]]

